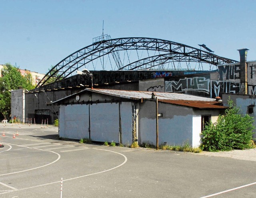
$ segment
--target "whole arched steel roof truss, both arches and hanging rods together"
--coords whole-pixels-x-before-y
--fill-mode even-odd
[[[130,62],[128,57],[126,63],[122,62],[119,56],[120,52],[126,51],[128,56],[128,51],[130,50],[136,50],[137,54],[140,50],[146,50],[148,56],[140,58],[138,55],[138,59],[132,62]],[[153,56],[150,56],[150,51],[154,53]],[[210,52],[168,40],[156,38],[116,38],[95,42],[67,56],[40,80],[37,87],[47,83],[52,77],[56,79],[55,81],[66,78],[82,66],[86,66],[95,60],[100,59],[102,61],[102,57],[110,55],[112,55],[118,70],[165,69],[164,64],[172,64],[174,62],[187,62],[188,69],[190,69],[190,62],[203,62],[213,66],[237,62],[236,60],[220,57]],[[172,69],[178,70],[181,68],[174,65]],[[96,70],[96,67],[93,70]],[[101,70],[105,70],[104,64]]]

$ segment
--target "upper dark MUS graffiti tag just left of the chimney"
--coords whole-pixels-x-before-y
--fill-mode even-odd
[[[219,66],[219,80],[236,80],[240,79],[240,65]]]

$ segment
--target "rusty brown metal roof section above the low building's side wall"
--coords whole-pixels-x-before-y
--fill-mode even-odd
[[[200,109],[226,109],[225,106],[220,106],[220,102],[214,101],[192,101],[192,100],[158,100],[159,102],[165,102],[170,104],[177,104],[182,106],[188,106],[193,108],[200,108]]]

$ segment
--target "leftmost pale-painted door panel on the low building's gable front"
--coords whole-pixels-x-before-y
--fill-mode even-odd
[[[89,105],[61,105],[59,114],[60,137],[89,138]]]

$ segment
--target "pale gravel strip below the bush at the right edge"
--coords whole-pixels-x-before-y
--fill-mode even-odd
[[[206,152],[198,153],[199,155],[214,156],[214,157],[226,157],[237,160],[248,160],[256,162],[256,148],[245,150],[232,150],[232,151],[220,151],[220,152]]]

